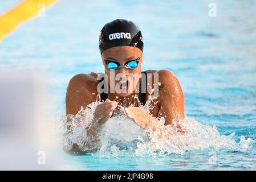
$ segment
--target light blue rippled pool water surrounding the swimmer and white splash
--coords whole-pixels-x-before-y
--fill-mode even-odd
[[[1,1],[0,14],[17,2]],[[216,17],[208,15],[210,2],[217,5]],[[3,40],[0,67],[44,75],[58,118],[65,111],[68,80],[77,73],[103,72],[97,46],[104,24],[117,18],[133,20],[143,33],[143,69],[174,72],[185,95],[188,121],[195,119],[203,127],[216,125],[220,134],[205,136],[213,132],[209,129],[196,138],[196,131],[206,131],[197,128],[192,139],[202,143],[188,151],[180,147],[182,154],[132,155],[129,151],[131,155],[123,155],[117,151],[115,155],[69,156],[60,149],[63,168],[255,170],[255,9],[255,1],[62,0],[47,9],[45,17],[22,24]],[[233,132],[231,139],[221,138]],[[251,142],[243,142],[243,137]],[[206,147],[207,140],[214,144]]]

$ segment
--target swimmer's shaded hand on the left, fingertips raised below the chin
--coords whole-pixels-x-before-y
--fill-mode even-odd
[[[105,100],[103,104],[96,106],[94,111],[94,118],[97,122],[97,126],[102,126],[111,117],[113,111],[115,110],[117,103],[116,101]]]

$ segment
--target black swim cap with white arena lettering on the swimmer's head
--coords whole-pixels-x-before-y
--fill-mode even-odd
[[[140,28],[132,21],[116,19],[105,24],[100,31],[100,53],[116,46],[132,46],[143,52],[143,38]]]

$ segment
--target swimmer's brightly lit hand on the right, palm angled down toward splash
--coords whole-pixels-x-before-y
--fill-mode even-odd
[[[141,128],[156,130],[156,118],[152,117],[142,107],[126,107],[124,110],[127,117],[131,118]]]

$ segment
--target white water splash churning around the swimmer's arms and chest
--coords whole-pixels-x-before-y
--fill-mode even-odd
[[[90,142],[87,136],[87,128],[91,127],[95,107],[100,102],[89,105],[90,109],[81,109],[76,115],[68,115],[62,118],[60,132],[63,133],[63,145],[72,148],[74,143],[78,144],[83,151],[90,150],[85,143]],[[66,122],[69,119],[70,122]],[[217,127],[203,125],[192,117],[185,117],[179,125],[188,131],[182,134],[176,131],[174,125],[164,126],[160,121],[159,130],[155,132],[141,129],[132,119],[124,114],[111,118],[105,123],[100,133],[100,144],[92,145],[98,148],[92,156],[107,157],[113,156],[165,156],[169,154],[188,154],[194,150],[220,150],[226,148],[235,151],[246,151],[250,148],[253,140],[241,137],[236,143],[233,139],[235,133],[228,136],[221,135]],[[71,130],[67,130],[67,126]],[[160,129],[162,132],[160,136]]]

